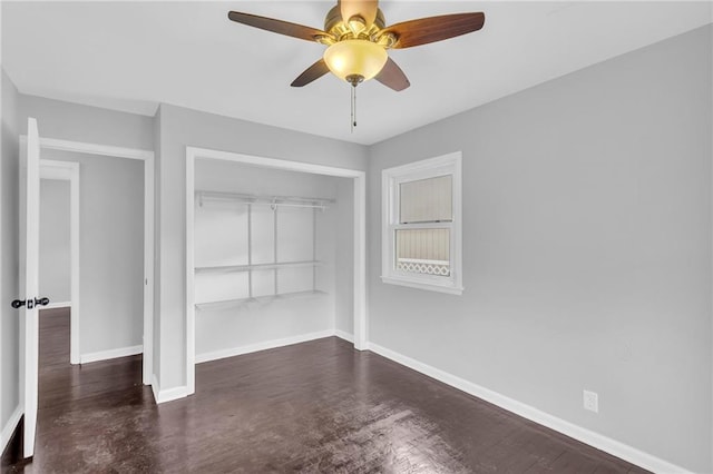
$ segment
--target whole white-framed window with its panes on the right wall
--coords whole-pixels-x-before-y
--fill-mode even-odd
[[[460,295],[461,154],[382,171],[384,283]]]

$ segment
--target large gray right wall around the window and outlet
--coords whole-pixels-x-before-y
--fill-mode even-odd
[[[706,27],[373,146],[370,340],[710,472],[711,52]],[[463,295],[382,284],[381,170],[455,150]]]

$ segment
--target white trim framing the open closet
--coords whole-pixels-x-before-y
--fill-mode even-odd
[[[206,148],[186,147],[186,391],[195,393],[195,302],[194,302],[194,205],[195,161],[199,158],[218,159],[245,165],[313,175],[352,178],[354,180],[354,348],[368,349],[367,339],[367,174],[346,168],[313,165],[218,151]]]

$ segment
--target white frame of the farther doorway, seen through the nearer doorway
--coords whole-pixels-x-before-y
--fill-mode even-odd
[[[41,148],[41,139],[40,139]],[[40,159],[40,180],[56,179],[69,181],[69,260],[70,297],[69,304],[69,363],[79,364],[79,164]],[[40,191],[41,196],[41,191]],[[41,234],[41,229],[40,229]],[[42,276],[40,275],[40,280]],[[61,304],[62,302],[60,302]],[[58,307],[49,302],[46,308]]]

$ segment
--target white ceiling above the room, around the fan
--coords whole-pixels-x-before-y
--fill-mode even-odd
[[[316,28],[335,2],[2,2],[2,63],[23,93],[153,116],[167,102],[373,144],[712,21],[710,1],[382,1],[387,23],[484,11],[479,32],[393,50],[411,87],[290,82],[323,46],[228,10]]]

